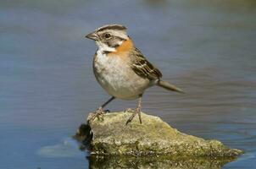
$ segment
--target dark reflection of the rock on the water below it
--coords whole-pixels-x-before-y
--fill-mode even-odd
[[[89,168],[205,168],[217,169],[234,159],[170,158],[169,156],[98,156],[87,157]]]

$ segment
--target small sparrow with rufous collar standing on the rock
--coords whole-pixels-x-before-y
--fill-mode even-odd
[[[131,123],[136,114],[142,124],[142,95],[147,88],[157,85],[184,93],[162,79],[159,69],[136,48],[124,25],[103,25],[86,35],[86,38],[95,41],[98,47],[93,57],[93,73],[97,82],[111,95],[108,101],[97,108],[89,121],[106,113],[103,108],[116,98],[128,101],[138,99],[135,109],[127,109],[132,115],[125,124]]]

